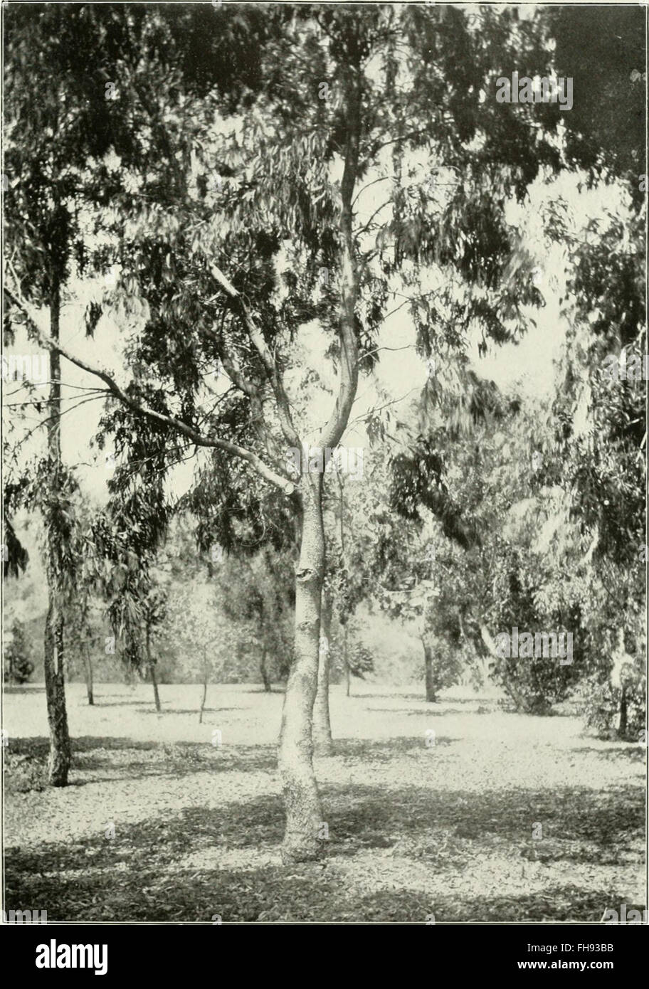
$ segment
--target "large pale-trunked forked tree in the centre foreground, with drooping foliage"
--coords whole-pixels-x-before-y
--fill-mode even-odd
[[[42,342],[104,387],[124,442],[166,443],[167,463],[174,447],[210,449],[226,487],[252,472],[294,516],[295,645],[279,768],[283,852],[299,860],[319,854],[323,818],[312,761],[323,470],[343,437],[359,373],[378,359],[391,308],[409,307],[424,356],[462,347],[478,323],[497,341],[524,330],[521,307],[537,291],[506,207],[542,168],[560,166],[560,115],[556,106],[541,114],[495,99],[503,71],[524,65],[533,74],[549,62],[534,18],[522,23],[512,9],[207,13],[206,44],[245,38],[255,66],[248,84],[232,85],[230,60],[200,92],[188,78],[191,62],[178,61],[170,74],[152,58],[131,74],[113,62],[125,90],[137,94],[143,78],[149,96],[159,86],[153,106],[137,103],[147,167],[122,163],[138,172],[139,195],[113,203],[124,220],[122,298],[141,315],[125,348],[128,384],[56,341],[21,285],[12,291]],[[170,45],[188,17],[182,9],[145,14],[163,23]],[[131,126],[126,114],[124,124]],[[306,421],[295,414],[296,341],[305,326],[337,370],[325,421],[316,408]],[[214,387],[217,362],[226,389]]]

